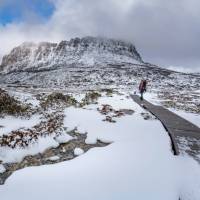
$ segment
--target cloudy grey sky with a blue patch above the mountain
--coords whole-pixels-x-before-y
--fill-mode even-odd
[[[105,36],[143,60],[200,72],[199,0],[0,0],[0,56],[24,41]]]

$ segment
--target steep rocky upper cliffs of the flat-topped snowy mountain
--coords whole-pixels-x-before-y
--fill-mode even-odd
[[[142,63],[135,46],[119,40],[84,37],[60,43],[24,43],[2,59],[3,73],[82,64]]]

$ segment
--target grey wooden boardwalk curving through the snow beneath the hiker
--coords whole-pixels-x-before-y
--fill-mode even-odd
[[[131,98],[161,121],[169,133],[175,155],[187,153],[200,163],[200,128],[198,126],[162,106],[153,105],[146,100],[141,101],[137,95],[131,95]]]

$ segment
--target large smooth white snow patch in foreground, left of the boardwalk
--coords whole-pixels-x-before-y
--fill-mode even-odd
[[[64,126],[87,132],[87,143],[112,142],[77,158],[15,172],[0,186],[1,200],[199,200],[200,165],[187,156],[174,156],[170,138],[158,120],[144,120],[146,112],[127,95],[101,97],[98,104],[66,108]],[[132,115],[103,121],[102,104]]]

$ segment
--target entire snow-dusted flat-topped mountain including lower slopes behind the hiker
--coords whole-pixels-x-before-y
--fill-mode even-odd
[[[60,43],[24,43],[3,57],[0,85],[72,91],[137,87],[141,78],[160,91],[191,91],[200,75],[174,72],[145,63],[131,43],[95,37]]]

